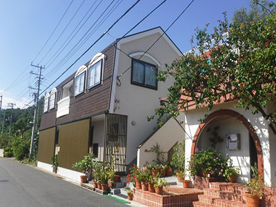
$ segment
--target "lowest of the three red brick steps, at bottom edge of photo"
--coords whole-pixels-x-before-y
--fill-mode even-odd
[[[204,204],[213,205],[213,206],[231,206],[231,207],[246,207],[247,204],[242,204],[235,201],[229,201],[227,199],[221,199],[218,197],[213,197],[210,195],[198,195],[199,201],[201,201]]]

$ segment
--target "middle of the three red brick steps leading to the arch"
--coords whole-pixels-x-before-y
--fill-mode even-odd
[[[238,203],[246,204],[246,196],[239,193],[232,193],[228,191],[215,190],[211,188],[204,189],[204,195],[212,197],[219,197],[221,199],[227,199],[229,201],[235,201]]]

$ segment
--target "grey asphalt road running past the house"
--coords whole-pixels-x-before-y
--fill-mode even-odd
[[[37,168],[0,158],[0,206],[126,206]]]

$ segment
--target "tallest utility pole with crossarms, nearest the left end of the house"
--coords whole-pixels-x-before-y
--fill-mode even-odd
[[[29,160],[32,159],[32,152],[34,150],[34,135],[36,132],[36,123],[37,123],[37,110],[39,108],[39,90],[40,90],[40,82],[41,82],[41,70],[44,69],[45,67],[42,66],[34,66],[31,64],[31,66],[39,68],[39,74],[36,74],[34,72],[30,72],[30,74],[33,75],[38,75],[38,86],[37,86],[37,94],[34,96],[34,102],[35,102],[35,108],[34,108],[34,123],[32,124],[32,140],[30,142],[30,157]]]

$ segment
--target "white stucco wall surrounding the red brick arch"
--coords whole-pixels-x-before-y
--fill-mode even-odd
[[[260,140],[261,146],[262,146],[262,152],[263,152],[263,158],[264,158],[264,181],[268,186],[271,186],[272,185],[272,182],[271,182],[272,175],[271,175],[271,164],[270,164],[271,161],[270,161],[270,143],[269,143],[269,137],[268,137],[269,136],[268,135],[268,123],[264,120],[264,118],[262,117],[262,115],[260,113],[257,115],[253,115],[251,113],[251,110],[244,110],[244,108],[234,108],[233,105],[234,105],[234,102],[218,104],[218,105],[214,106],[214,108],[211,112],[214,112],[215,110],[220,110],[220,109],[234,110],[234,111],[242,114],[250,122],[250,124],[253,126],[253,128],[257,132],[257,136],[259,137],[259,140]],[[188,135],[186,134],[186,137],[185,137],[185,139],[186,139],[186,145],[185,145],[186,164],[188,164],[187,161],[190,158],[191,147],[193,144],[193,137],[195,136],[195,132],[196,132],[197,128],[199,127],[199,121],[197,121],[197,120],[200,118],[204,118],[204,112],[206,112],[206,108],[199,108],[197,110],[190,110],[190,111],[186,112],[185,129],[186,129],[186,132],[188,133]],[[210,114],[211,112],[208,112],[208,114]],[[227,127],[229,127],[229,129],[226,129],[225,132],[227,132],[228,130],[229,131],[241,130],[242,135],[246,136],[244,129],[236,128],[234,122],[233,122],[233,125],[227,126]],[[231,129],[231,128],[233,128],[233,129]],[[246,143],[244,143],[244,144],[246,144]],[[244,145],[244,144],[242,144],[242,145]],[[225,148],[221,148],[221,150],[223,153],[226,154]],[[242,155],[245,157],[244,158],[241,157],[241,158],[237,159],[237,161],[244,160],[244,162],[246,162],[248,160],[246,158],[246,152],[244,152],[244,151],[246,151],[247,148],[242,148],[242,150],[243,150]],[[235,153],[235,152],[234,151],[231,152],[232,155],[234,155],[233,153]],[[246,166],[246,164],[244,164],[244,166]],[[273,166],[274,166],[274,164],[273,164]],[[244,172],[246,172],[246,167],[244,167],[243,169],[242,170]],[[242,172],[242,173],[244,174],[244,172]],[[244,176],[244,181],[246,181],[247,175],[246,176],[243,175],[243,176]],[[276,186],[276,185],[273,183],[273,186]]]

